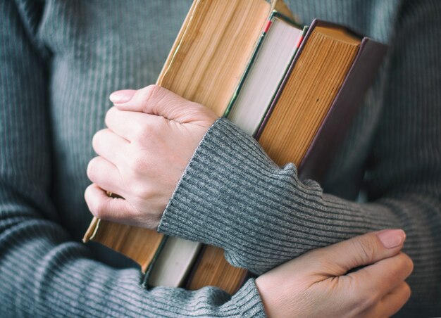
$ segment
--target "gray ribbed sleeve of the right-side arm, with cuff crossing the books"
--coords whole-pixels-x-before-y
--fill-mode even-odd
[[[438,303],[441,281],[441,2],[412,1],[395,25],[383,113],[366,171],[367,203],[301,182],[225,119],[204,136],[159,231],[221,246],[261,274],[312,248],[383,228],[406,230],[413,297]],[[335,173],[335,172],[333,172]]]

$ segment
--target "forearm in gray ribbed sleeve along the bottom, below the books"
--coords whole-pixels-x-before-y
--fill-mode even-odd
[[[1,205],[1,212],[5,206]],[[0,315],[18,317],[252,317],[263,314],[254,281],[235,296],[216,288],[185,291],[141,286],[138,269],[113,269],[94,261],[57,224],[1,222]]]

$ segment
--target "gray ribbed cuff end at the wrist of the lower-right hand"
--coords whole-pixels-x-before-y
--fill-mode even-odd
[[[249,279],[231,298],[242,317],[266,317],[254,279]]]

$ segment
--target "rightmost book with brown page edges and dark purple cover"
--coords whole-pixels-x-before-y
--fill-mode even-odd
[[[340,25],[314,20],[277,94],[269,102],[262,98],[263,105],[257,106],[263,118],[253,120],[250,125],[242,117],[254,112],[254,105],[236,103],[232,105],[231,114],[235,113],[235,107],[242,107],[236,110],[241,115],[231,119],[254,134],[275,163],[294,163],[299,167],[301,179],[320,181],[385,51],[383,44],[362,38]],[[264,89],[259,83],[266,85],[266,82],[259,78],[255,82],[257,85],[252,89]],[[236,101],[240,99],[239,96]],[[187,287],[218,286],[225,284],[224,281],[234,284],[231,276],[222,274],[225,263],[215,248],[206,248]],[[239,288],[244,273],[234,273],[232,277],[237,279],[235,288]]]

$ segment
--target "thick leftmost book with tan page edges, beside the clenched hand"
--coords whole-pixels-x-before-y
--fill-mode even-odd
[[[291,15],[278,0],[194,0],[156,84],[223,115],[274,9]],[[127,255],[143,272],[165,247],[156,231],[97,218],[83,238],[89,240]]]

